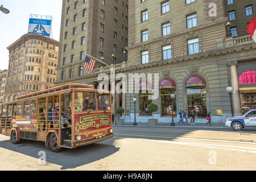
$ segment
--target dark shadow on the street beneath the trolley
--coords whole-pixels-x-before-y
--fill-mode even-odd
[[[20,144],[13,144],[10,140],[0,141],[0,147],[14,152],[19,152],[27,156],[39,159],[39,151],[46,152],[46,162],[62,166],[61,169],[72,169],[85,164],[96,162],[104,159],[115,152],[119,151],[118,147],[113,145],[113,139],[110,143],[103,141],[100,143],[90,144],[75,149],[64,148],[61,152],[55,153],[44,146],[44,142],[25,140]],[[106,143],[106,144],[105,144]]]

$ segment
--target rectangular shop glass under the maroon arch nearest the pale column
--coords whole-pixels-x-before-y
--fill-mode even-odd
[[[207,116],[207,93],[204,88],[187,88],[188,111],[195,110],[195,116]]]

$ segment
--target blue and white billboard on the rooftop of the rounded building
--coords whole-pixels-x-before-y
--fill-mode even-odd
[[[51,36],[52,20],[30,18],[28,33]]]

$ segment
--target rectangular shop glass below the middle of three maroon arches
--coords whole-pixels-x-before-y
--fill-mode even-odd
[[[172,106],[171,94],[175,94],[175,99]],[[176,91],[175,90],[161,90],[161,114],[162,117],[176,115]],[[173,111],[173,113],[172,113]]]

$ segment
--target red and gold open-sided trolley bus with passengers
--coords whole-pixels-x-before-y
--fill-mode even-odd
[[[113,137],[111,93],[67,84],[17,97],[2,105],[0,133],[18,144],[45,142],[59,152]]]

